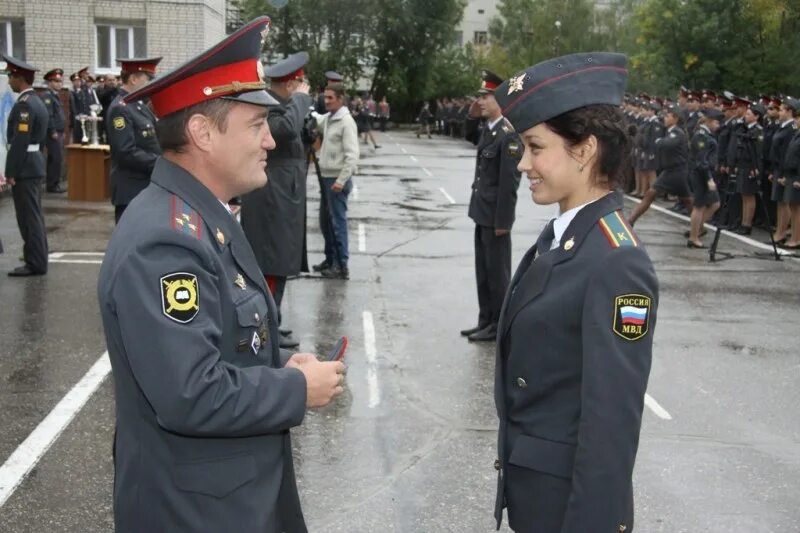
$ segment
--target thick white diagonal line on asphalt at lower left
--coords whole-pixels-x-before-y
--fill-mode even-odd
[[[39,459],[55,442],[61,432],[72,422],[92,394],[100,387],[111,371],[108,352],[103,353],[92,368],[61,399],[28,438],[0,466],[0,507],[17,490]]]

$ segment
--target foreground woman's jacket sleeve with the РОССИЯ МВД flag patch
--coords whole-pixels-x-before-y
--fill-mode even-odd
[[[562,533],[619,531],[650,373],[658,282],[642,248],[615,249],[590,281],[572,493]]]

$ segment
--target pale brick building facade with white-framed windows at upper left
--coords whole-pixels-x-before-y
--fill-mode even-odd
[[[42,74],[118,72],[116,58],[148,56],[163,56],[159,68],[169,70],[225,37],[225,7],[225,0],[0,0],[0,51]]]

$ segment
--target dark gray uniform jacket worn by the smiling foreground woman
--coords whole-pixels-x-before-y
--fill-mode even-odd
[[[612,193],[584,207],[558,248],[528,251],[506,295],[495,374],[498,529],[504,507],[515,531],[633,529],[658,281],[622,206]]]

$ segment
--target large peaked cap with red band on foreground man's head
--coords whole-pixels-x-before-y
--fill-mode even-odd
[[[158,117],[216,98],[277,105],[278,101],[264,90],[264,67],[260,61],[267,31],[269,17],[259,17],[172,72],[130,93],[124,101],[150,98]]]

